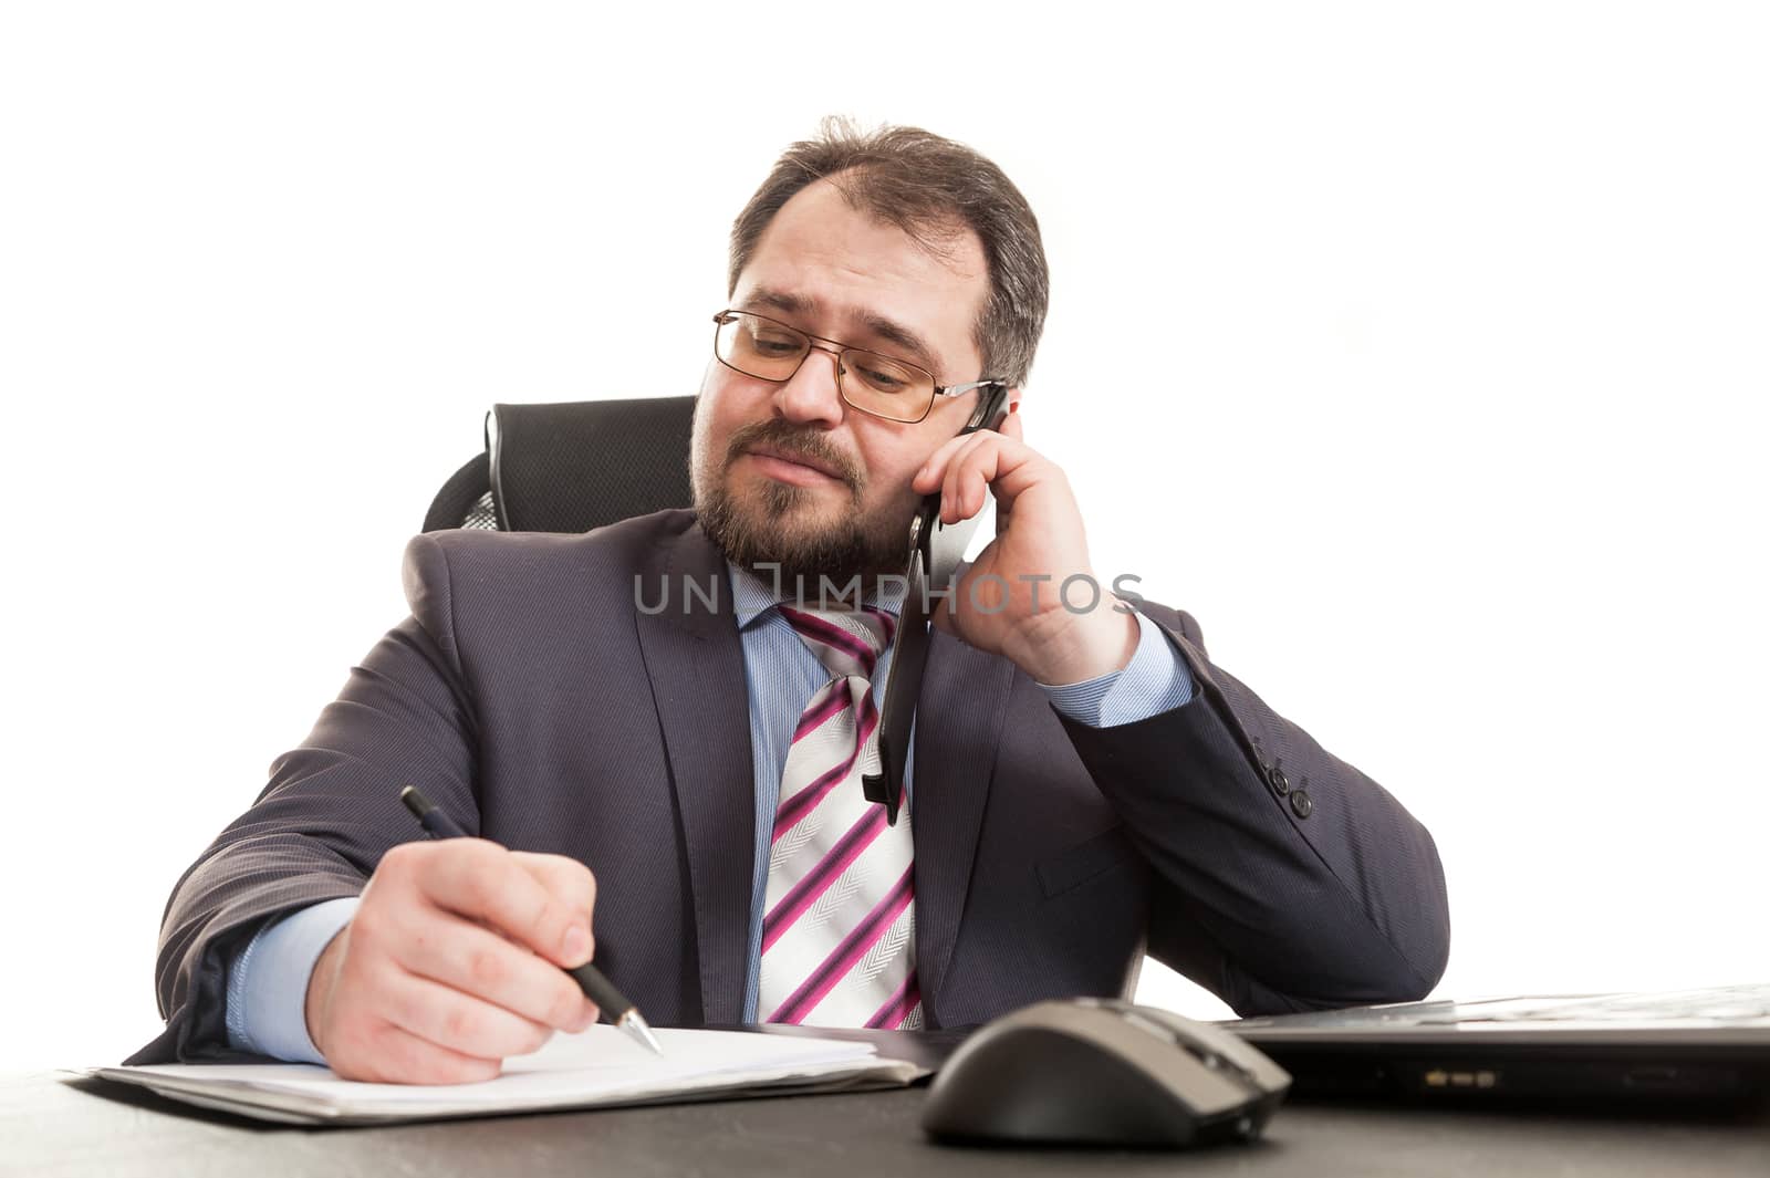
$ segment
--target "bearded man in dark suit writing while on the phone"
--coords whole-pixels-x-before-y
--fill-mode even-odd
[[[414,539],[412,617],[179,883],[136,1061],[483,1079],[595,1019],[556,968],[591,957],[657,1024],[959,1026],[1120,992],[1145,945],[1243,1014],[1430,991],[1430,835],[1191,617],[1060,593],[1104,582],[1020,425],[1044,306],[986,159],[846,124],[789,149],[733,228],[696,509]],[[959,437],[991,380],[1014,412]],[[936,608],[890,824],[858,780],[881,577],[933,492],[945,522],[993,495],[997,536]],[[795,593],[857,575],[864,608]],[[414,840],[402,784],[480,837]]]

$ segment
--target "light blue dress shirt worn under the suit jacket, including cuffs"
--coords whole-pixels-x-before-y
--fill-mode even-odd
[[[756,780],[756,865],[750,886],[749,968],[743,982],[743,1019],[754,1022],[761,976],[763,902],[768,895],[768,847],[773,842],[781,773],[786,769],[793,725],[798,723],[805,700],[828,681],[830,672],[775,608],[777,598],[772,587],[731,562],[726,568],[731,573],[733,605],[743,642],[750,761]],[[867,601],[897,614],[903,593]],[[1140,630],[1136,651],[1124,669],[1083,683],[1062,686],[1041,683],[1051,706],[1080,723],[1115,727],[1186,704],[1193,697],[1193,677],[1186,662],[1161,626],[1143,614],[1136,616],[1136,623]],[[892,647],[887,647],[873,676],[873,700],[881,708],[890,656]],[[910,731],[904,792],[912,791],[915,775],[913,722]],[[308,976],[326,945],[349,923],[356,906],[356,897],[343,897],[292,913],[266,925],[228,962],[227,1031],[234,1049],[301,1063],[326,1061],[308,1036]]]

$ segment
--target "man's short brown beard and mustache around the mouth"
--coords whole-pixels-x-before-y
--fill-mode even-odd
[[[763,580],[779,575],[782,593],[796,584],[805,585],[804,593],[814,593],[820,578],[843,585],[853,577],[862,578],[866,593],[869,580],[904,571],[912,506],[881,511],[867,520],[862,508],[866,476],[827,446],[818,430],[795,428],[770,417],[733,430],[724,453],[712,453],[699,423],[696,426],[694,511],[701,531],[733,564]],[[830,499],[825,488],[773,479],[733,488],[731,465],[750,446],[768,446],[782,455],[814,458],[832,467],[848,490],[846,504],[825,506],[820,513],[818,501]],[[779,573],[759,568],[765,564],[777,566]]]

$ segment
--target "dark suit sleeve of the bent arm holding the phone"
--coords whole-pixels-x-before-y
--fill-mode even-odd
[[[1138,610],[1191,700],[1106,729],[1058,720],[1154,868],[1150,955],[1244,1017],[1425,998],[1450,955],[1432,835],[1211,665],[1189,616]]]

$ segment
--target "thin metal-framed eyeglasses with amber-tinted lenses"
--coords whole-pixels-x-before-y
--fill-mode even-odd
[[[835,389],[864,414],[887,421],[915,423],[935,407],[936,396],[963,396],[1000,380],[935,384],[935,373],[908,361],[850,348],[835,340],[812,336],[752,311],[720,311],[713,317],[713,356],[745,377],[786,384],[812,348],[835,357]],[[835,347],[823,347],[834,343]]]

